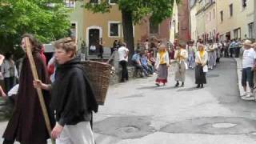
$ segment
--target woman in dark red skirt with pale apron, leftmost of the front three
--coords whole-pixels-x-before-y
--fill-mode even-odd
[[[159,46],[155,62],[155,68],[158,71],[158,78],[155,80],[155,84],[157,86],[160,86],[160,83],[166,85],[168,78],[168,66],[170,66],[169,54],[166,50],[166,46],[162,44]]]

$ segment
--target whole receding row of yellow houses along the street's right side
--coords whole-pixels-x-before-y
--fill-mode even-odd
[[[205,40],[255,38],[255,2],[254,0],[190,0],[190,4],[194,4],[190,5],[193,39],[196,37]],[[196,14],[194,14],[195,10]],[[194,19],[196,22],[193,22]]]

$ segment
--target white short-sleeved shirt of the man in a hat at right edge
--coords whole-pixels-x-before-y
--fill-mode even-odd
[[[244,50],[242,55],[242,68],[253,67],[256,59],[256,52],[253,48]]]

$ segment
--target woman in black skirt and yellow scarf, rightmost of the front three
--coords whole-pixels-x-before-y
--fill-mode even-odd
[[[198,84],[197,88],[203,88],[203,84],[206,84],[206,72],[203,67],[207,66],[208,54],[202,44],[198,46],[198,52],[195,55],[195,83]],[[207,67],[205,67],[207,69]]]

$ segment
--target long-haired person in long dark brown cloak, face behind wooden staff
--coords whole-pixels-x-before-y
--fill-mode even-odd
[[[49,83],[46,65],[42,61],[40,50],[38,49],[38,41],[33,35],[24,34],[22,36],[22,49],[25,51],[26,46],[24,38],[26,37],[29,38],[31,43],[38,78],[41,79],[42,82]],[[20,84],[14,112],[2,136],[5,138],[3,144],[13,144],[15,140],[21,142],[21,144],[46,144],[47,138],[50,138],[46,130],[37,90],[34,89],[33,86],[33,80],[30,62],[26,56],[22,62]],[[46,91],[43,91],[43,95],[47,107],[50,103],[50,95],[47,94]],[[52,120],[51,114],[50,118]]]

